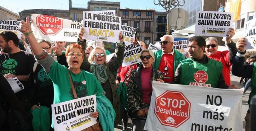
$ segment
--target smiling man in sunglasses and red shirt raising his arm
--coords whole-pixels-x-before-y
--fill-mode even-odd
[[[225,83],[230,86],[230,67],[232,66],[232,59],[235,57],[237,53],[237,49],[235,43],[231,40],[231,38],[235,35],[234,28],[230,28],[227,33],[226,41],[228,50],[218,51],[218,40],[215,37],[208,37],[206,39],[206,55],[214,60],[217,60],[222,63],[223,69],[223,77],[225,79]]]

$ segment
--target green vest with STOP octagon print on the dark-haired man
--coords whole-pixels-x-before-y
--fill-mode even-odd
[[[213,59],[202,64],[192,59],[180,62],[180,84],[190,86],[214,87],[218,86],[222,64]]]

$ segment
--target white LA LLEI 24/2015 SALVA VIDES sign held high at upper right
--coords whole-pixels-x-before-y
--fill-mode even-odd
[[[226,37],[233,25],[233,13],[197,11],[195,35]]]

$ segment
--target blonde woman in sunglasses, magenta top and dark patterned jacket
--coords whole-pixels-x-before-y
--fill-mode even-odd
[[[149,111],[150,97],[152,94],[152,81],[163,81],[163,74],[153,69],[155,61],[152,50],[144,49],[140,53],[142,64],[137,69],[131,71],[127,88],[127,106],[133,116],[140,119],[131,118],[133,131],[144,131],[147,113]],[[143,77],[142,77],[143,76]]]

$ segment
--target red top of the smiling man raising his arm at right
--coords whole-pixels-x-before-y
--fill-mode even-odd
[[[209,58],[219,61],[222,63],[223,65],[223,69],[222,69],[222,74],[225,80],[225,83],[230,86],[230,66],[232,66],[232,64],[229,62],[229,51],[225,50],[225,51],[217,51],[216,54],[214,54],[213,56],[209,56],[207,55]]]

